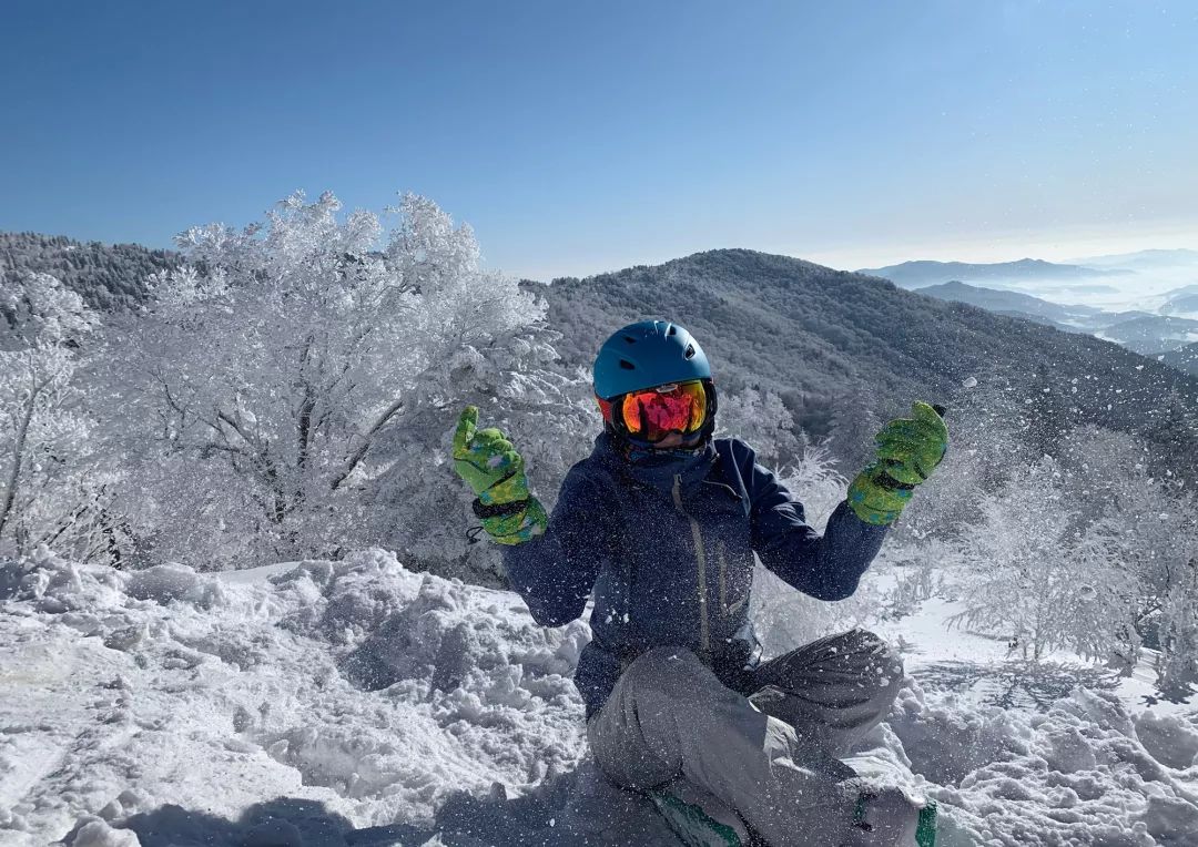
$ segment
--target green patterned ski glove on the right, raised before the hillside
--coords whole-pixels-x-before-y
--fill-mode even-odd
[[[882,428],[877,458],[848,486],[848,507],[866,524],[893,524],[949,447],[949,428],[932,406],[916,401],[912,412]]]

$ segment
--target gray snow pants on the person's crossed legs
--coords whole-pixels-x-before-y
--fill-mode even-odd
[[[901,660],[859,629],[764,663],[734,683],[740,691],[692,652],[659,647],[624,670],[587,734],[618,785],[682,775],[772,847],[833,847],[857,801],[837,758],[890,710],[902,677]]]

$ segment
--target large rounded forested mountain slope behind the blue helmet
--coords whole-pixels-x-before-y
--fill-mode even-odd
[[[878,411],[913,397],[951,404],[974,377],[982,389],[1009,391],[1015,404],[1059,418],[1043,422],[1047,429],[1095,423],[1176,442],[1180,410],[1180,440],[1193,437],[1198,380],[1160,362],[788,256],[712,250],[557,279],[543,294],[569,363],[588,365],[601,339],[627,321],[671,317],[702,340],[718,383],[783,393],[816,434],[829,416],[852,411],[846,403]],[[1174,415],[1169,435],[1160,421],[1166,398]],[[1168,453],[1181,447],[1169,443]]]

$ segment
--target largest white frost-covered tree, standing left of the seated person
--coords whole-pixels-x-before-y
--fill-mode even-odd
[[[150,495],[131,501],[159,557],[229,567],[373,536],[412,544],[461,521],[419,508],[459,406],[563,389],[543,374],[541,305],[483,270],[468,226],[415,195],[386,237],[375,214],[340,208],[297,193],[262,224],[188,230],[184,264],[114,339],[134,374],[126,415],[147,424],[125,442]],[[379,514],[383,477],[400,494]]]

